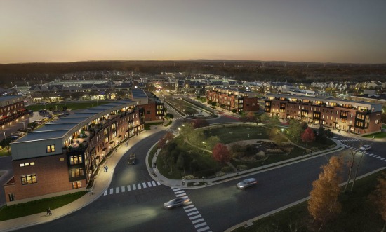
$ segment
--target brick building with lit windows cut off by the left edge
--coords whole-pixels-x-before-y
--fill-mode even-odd
[[[4,125],[25,114],[28,114],[28,111],[24,107],[22,96],[9,95],[0,97],[0,125]]]

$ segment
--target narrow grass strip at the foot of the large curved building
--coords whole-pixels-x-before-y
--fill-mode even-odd
[[[72,203],[74,200],[81,198],[86,194],[86,191],[81,191],[77,193],[67,194],[63,196],[57,196],[54,198],[46,198],[41,200],[34,200],[28,203],[21,203],[18,205],[11,205],[0,208],[0,221],[5,221],[9,219],[14,219],[18,217],[24,217],[31,214],[37,214],[40,212],[46,212],[47,208],[50,207],[51,210],[63,205]]]

